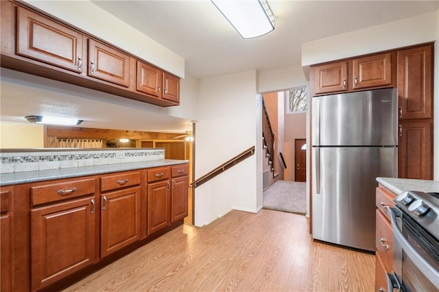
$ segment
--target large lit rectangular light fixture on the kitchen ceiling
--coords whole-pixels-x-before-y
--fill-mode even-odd
[[[274,30],[274,14],[266,0],[211,0],[243,38]]]

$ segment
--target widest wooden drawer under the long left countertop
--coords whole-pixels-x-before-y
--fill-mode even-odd
[[[71,180],[30,188],[32,206],[95,193],[95,179]]]

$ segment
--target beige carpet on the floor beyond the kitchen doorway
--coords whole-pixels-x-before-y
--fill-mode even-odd
[[[301,215],[307,214],[306,182],[277,180],[263,192],[263,208]]]

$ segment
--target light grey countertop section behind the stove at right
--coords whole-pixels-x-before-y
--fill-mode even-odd
[[[377,178],[385,188],[399,195],[405,191],[439,192],[439,181],[437,180],[412,180],[408,178]]]

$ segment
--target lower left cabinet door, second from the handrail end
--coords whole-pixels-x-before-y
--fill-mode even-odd
[[[171,223],[171,183],[169,180],[148,184],[147,233],[148,235]]]

